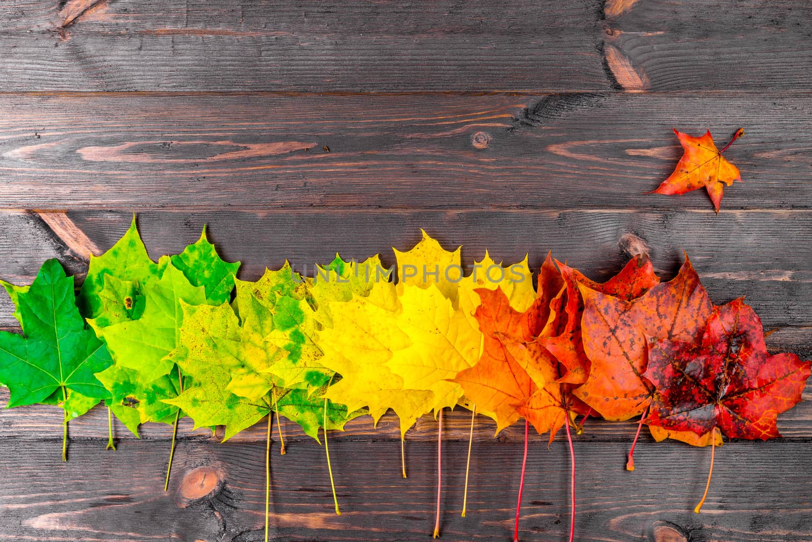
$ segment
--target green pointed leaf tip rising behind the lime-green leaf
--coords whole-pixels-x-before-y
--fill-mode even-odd
[[[218,305],[231,300],[231,290],[240,262],[229,263],[220,258],[214,245],[205,235],[192,243],[178,255],[171,256],[172,265],[186,275],[193,286],[203,286],[209,305]]]

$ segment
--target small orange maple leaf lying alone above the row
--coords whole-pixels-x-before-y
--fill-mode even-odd
[[[708,196],[711,196],[716,213],[719,213],[724,185],[727,184],[729,187],[733,181],[741,181],[739,168],[725,160],[722,153],[728,150],[733,141],[744,135],[744,128],[736,130],[733,139],[722,150],[716,148],[710,130],[706,131],[702,137],[693,137],[693,135],[684,134],[676,129],[674,129],[674,133],[679,138],[685,153],[676,165],[674,173],[665,179],[656,190],[646,193],[685,194],[685,192],[705,187]]]

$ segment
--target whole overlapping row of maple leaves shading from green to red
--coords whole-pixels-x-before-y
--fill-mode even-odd
[[[722,433],[779,437],[776,416],[810,375],[796,355],[767,354],[741,299],[714,306],[687,258],[670,282],[637,256],[601,284],[548,255],[534,289],[526,258],[503,268],[486,253],[471,275],[447,273],[461,269],[460,249],[425,232],[395,257],[440,273],[379,280],[378,256],[336,256],[315,278],[286,263],[246,282],[205,230],[154,262],[133,219],[91,259],[78,299],[56,260],[31,286],[2,283],[23,329],[0,333],[8,407],[58,404],[67,431],[103,400],[136,434],[189,415],[225,426],[227,440],[266,415],[270,429],[272,411],[318,439],[390,408],[403,436],[460,404],[498,431],[523,418],[525,435],[532,424],[551,441],[589,415],[641,415],[658,441],[716,445]]]

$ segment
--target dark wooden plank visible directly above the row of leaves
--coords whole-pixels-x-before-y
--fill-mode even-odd
[[[126,211],[76,211],[67,217],[106,250],[129,226]],[[197,240],[204,223],[209,239],[228,260],[244,262],[240,276],[256,279],[285,259],[300,271],[329,261],[335,252],[365,258],[388,247],[411,247],[425,228],[445,246],[463,245],[468,265],[486,249],[496,260],[517,261],[529,252],[538,268],[548,250],[595,279],[606,279],[628,260],[620,239],[636,235],[649,247],[655,268],[672,277],[687,252],[716,303],[746,295],[767,329],[810,325],[812,314],[812,214],[796,211],[145,211],[140,230],[154,258],[177,253]],[[48,257],[68,268],[85,266],[67,241],[30,213],[0,213],[0,277],[30,282]],[[14,325],[0,295],[0,325]]]

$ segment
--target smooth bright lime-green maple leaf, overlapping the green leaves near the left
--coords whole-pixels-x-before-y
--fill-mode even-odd
[[[161,277],[143,288],[144,312],[137,320],[123,320],[113,325],[99,325],[88,320],[97,335],[104,339],[115,363],[140,372],[140,380],[151,382],[169,374],[173,361],[167,355],[175,349],[183,320],[182,301],[205,303],[203,286],[192,286],[186,275],[162,256]]]

